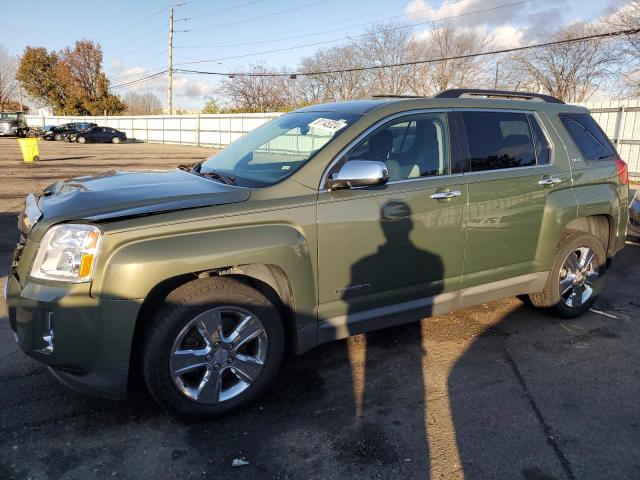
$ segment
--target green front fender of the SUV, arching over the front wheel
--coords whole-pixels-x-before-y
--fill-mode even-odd
[[[103,267],[96,272],[93,296],[142,299],[160,282],[179,275],[270,264],[288,277],[298,328],[315,321],[314,257],[302,228],[273,223],[183,233],[167,229],[145,232],[142,238],[105,236],[100,258]],[[126,236],[131,237],[131,232]]]

